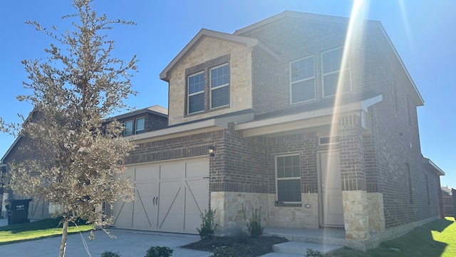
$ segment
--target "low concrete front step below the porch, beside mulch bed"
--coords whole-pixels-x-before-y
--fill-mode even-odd
[[[298,241],[289,241],[286,243],[278,243],[272,246],[272,249],[275,253],[288,253],[295,254],[300,256],[305,256],[307,249],[312,249],[314,251],[319,251],[320,253],[329,253],[331,251],[336,251],[343,246],[336,246],[331,244],[323,243],[307,243],[307,242],[298,242]]]

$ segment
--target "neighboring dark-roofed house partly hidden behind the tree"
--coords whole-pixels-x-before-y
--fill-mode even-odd
[[[31,114],[33,116],[34,113]],[[125,124],[124,136],[130,136],[139,133],[145,133],[148,131],[155,131],[157,129],[164,129],[167,127],[167,109],[162,106],[151,106],[149,108],[132,111],[128,114],[122,114],[113,117],[120,122]],[[109,122],[112,119],[108,119]],[[0,171],[7,170],[7,164],[11,161],[24,161],[26,159],[39,159],[42,156],[38,155],[38,152],[27,151],[31,141],[28,138],[16,138],[16,141],[6,151],[3,158],[0,160]],[[0,187],[0,195],[3,193],[3,188]],[[21,196],[14,195],[11,191],[5,192],[0,199],[13,199],[22,198]],[[2,206],[4,207],[4,202]],[[33,198],[28,208],[28,218],[41,219],[48,218],[49,211],[48,203],[43,202],[41,198]],[[1,208],[2,216],[6,216],[6,209]]]

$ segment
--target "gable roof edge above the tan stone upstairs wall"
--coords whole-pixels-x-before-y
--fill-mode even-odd
[[[195,46],[197,46],[199,41],[201,41],[207,36],[224,41],[232,41],[234,43],[245,44],[247,48],[253,48],[254,46],[257,46],[274,59],[279,59],[279,56],[276,53],[274,53],[274,51],[271,51],[271,49],[264,46],[264,44],[261,44],[261,42],[258,41],[258,39],[252,39],[246,36],[227,34],[219,31],[212,31],[209,29],[201,29],[198,32],[198,34],[194,36],[193,39],[187,44],[187,46],[185,46],[184,49],[182,49],[182,51],[180,51],[180,53],[177,54],[177,56],[174,59],[172,59],[170,64],[168,64],[166,68],[160,73],[160,79],[164,81],[169,81],[170,71],[172,71],[172,69],[174,69],[175,66],[180,64],[180,62],[185,58],[185,56],[190,54],[192,49],[194,49]]]

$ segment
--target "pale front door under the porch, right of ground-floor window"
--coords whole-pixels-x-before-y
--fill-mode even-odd
[[[338,151],[319,153],[321,183],[321,223],[343,226],[343,201],[340,157]]]

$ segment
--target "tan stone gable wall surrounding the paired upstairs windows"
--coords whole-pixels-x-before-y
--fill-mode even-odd
[[[226,55],[229,55],[230,69],[229,108],[207,109],[187,116],[185,113],[187,109],[186,69]],[[224,64],[226,63],[228,61],[224,62]],[[205,69],[210,68],[207,67]],[[209,78],[205,79],[209,81]],[[204,94],[209,94],[209,91]],[[204,98],[209,101],[209,98],[206,96]],[[172,71],[168,103],[168,121],[170,126],[221,114],[229,114],[235,111],[252,109],[252,49],[248,49],[244,44],[204,37],[195,46],[195,49],[192,49],[188,56]]]

